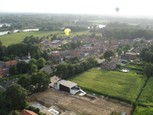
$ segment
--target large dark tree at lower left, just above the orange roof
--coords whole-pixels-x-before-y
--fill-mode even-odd
[[[13,84],[6,89],[6,103],[10,109],[23,109],[26,106],[27,91],[21,85]]]

